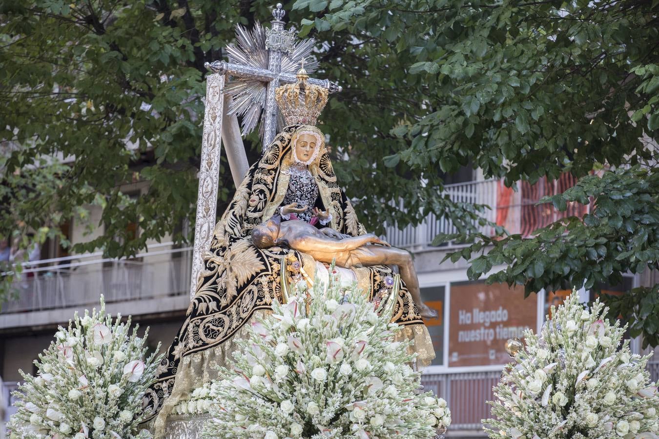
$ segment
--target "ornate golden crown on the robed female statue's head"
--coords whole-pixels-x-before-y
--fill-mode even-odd
[[[295,75],[295,84],[286,84],[275,90],[275,101],[287,125],[316,125],[318,115],[328,103],[329,90],[307,82],[309,75],[304,65]],[[301,91],[304,93],[301,95]]]

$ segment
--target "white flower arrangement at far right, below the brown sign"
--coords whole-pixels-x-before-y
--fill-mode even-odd
[[[632,355],[621,343],[625,328],[602,318],[599,299],[590,312],[573,292],[552,307],[540,336],[525,332],[494,388],[490,438],[657,438],[659,396],[645,370],[650,355]]]

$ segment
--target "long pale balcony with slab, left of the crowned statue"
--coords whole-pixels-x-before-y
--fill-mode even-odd
[[[67,321],[74,309],[98,306],[100,294],[112,313],[186,309],[192,248],[165,243],[150,245],[149,250],[130,259],[90,253],[26,266],[13,282],[13,297],[2,305],[0,328]]]

